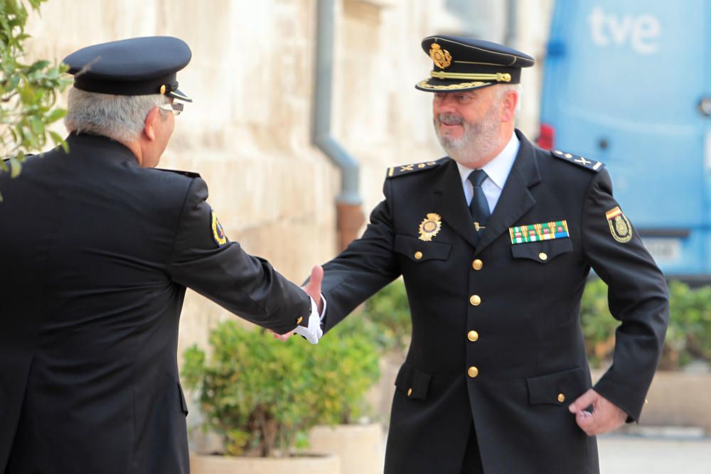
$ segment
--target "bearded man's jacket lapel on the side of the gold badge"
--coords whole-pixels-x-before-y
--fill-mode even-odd
[[[444,224],[449,225],[454,232],[475,247],[479,239],[471,222],[469,208],[466,207],[459,171],[454,160],[450,159],[445,166],[447,168],[444,170],[444,176],[434,188],[437,203],[435,209],[439,210]]]

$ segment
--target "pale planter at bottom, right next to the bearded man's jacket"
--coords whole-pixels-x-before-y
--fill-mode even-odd
[[[316,426],[309,433],[309,446],[341,459],[341,474],[383,473],[383,426]]]

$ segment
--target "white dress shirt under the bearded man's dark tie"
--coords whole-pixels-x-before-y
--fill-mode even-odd
[[[493,158],[493,160],[481,167],[486,173],[486,179],[481,183],[481,190],[483,190],[486,196],[489,212],[493,212],[493,208],[496,208],[496,203],[498,203],[498,198],[501,196],[503,185],[506,183],[508,173],[511,172],[513,161],[515,161],[516,155],[518,154],[519,146],[520,141],[518,141],[518,137],[516,134],[512,134],[511,139],[508,141],[508,144],[504,146],[503,150],[501,150],[501,153],[498,153],[496,158]],[[461,176],[461,185],[464,188],[466,205],[469,205],[469,203],[471,203],[471,197],[474,195],[474,185],[466,178],[469,177],[474,169],[467,168],[459,163],[456,163],[456,167],[459,168],[459,176]]]

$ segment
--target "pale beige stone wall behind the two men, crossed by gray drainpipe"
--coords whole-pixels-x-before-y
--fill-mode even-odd
[[[505,3],[489,1],[483,11],[503,18]],[[539,54],[551,1],[519,3],[518,46]],[[360,161],[368,215],[382,198],[385,168],[444,154],[432,132],[431,96],[413,87],[432,67],[419,41],[461,31],[462,22],[444,0],[341,0],[335,16],[333,135]],[[193,60],[178,80],[194,102],[178,117],[161,166],[201,173],[228,237],[294,281],[335,254],[340,176],[310,138],[316,0],[49,0],[28,33],[31,58],[57,59],[121,38],[183,38]],[[531,85],[520,122],[529,136],[538,77],[539,70],[524,75]],[[210,326],[227,317],[188,292],[180,352],[205,345]]]

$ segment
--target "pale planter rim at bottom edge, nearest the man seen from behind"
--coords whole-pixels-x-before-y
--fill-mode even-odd
[[[341,460],[333,454],[293,458],[240,458],[191,454],[191,474],[339,474]]]

